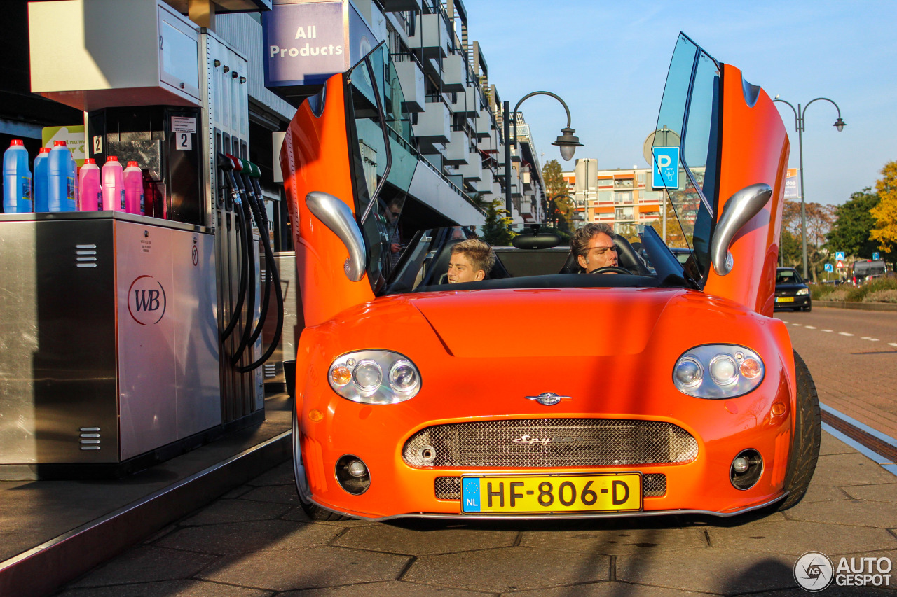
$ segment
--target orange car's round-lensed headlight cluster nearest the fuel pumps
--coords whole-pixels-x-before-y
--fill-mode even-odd
[[[338,357],[327,371],[336,394],[362,404],[395,404],[421,390],[411,359],[390,350],[357,350]]]

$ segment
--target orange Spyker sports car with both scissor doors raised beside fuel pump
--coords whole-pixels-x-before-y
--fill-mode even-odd
[[[656,131],[666,238],[457,226],[405,202],[427,166],[385,47],[301,104],[281,163],[310,516],[727,516],[804,496],[819,404],[772,318],[784,125],[680,35]],[[413,210],[425,225],[399,234]]]

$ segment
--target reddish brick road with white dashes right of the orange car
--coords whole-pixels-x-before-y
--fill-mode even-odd
[[[897,312],[814,307],[780,311],[819,400],[897,437]]]

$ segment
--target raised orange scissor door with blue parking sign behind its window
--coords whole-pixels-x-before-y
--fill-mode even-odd
[[[680,34],[653,144],[656,187],[674,210],[666,240],[692,249],[687,273],[705,292],[771,315],[789,145],[770,97]],[[771,192],[757,195],[763,185]],[[742,191],[762,206],[733,231]]]

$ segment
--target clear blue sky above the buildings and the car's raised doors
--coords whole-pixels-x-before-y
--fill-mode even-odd
[[[585,144],[576,158],[602,169],[646,166],[645,137],[657,121],[677,34],[684,31],[719,62],[775,97],[825,101],[806,112],[807,201],[844,203],[874,186],[884,163],[897,160],[897,2],[607,2],[467,0],[470,39],[478,40],[489,80],[513,108],[530,91],[553,91],[570,106]],[[794,114],[777,104],[797,168]],[[543,163],[560,159],[551,143],[565,124],[554,99],[520,108]],[[576,159],[574,158],[574,160]]]

